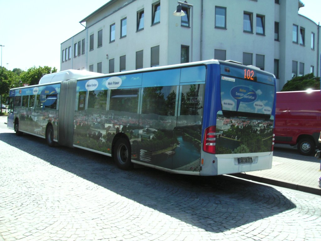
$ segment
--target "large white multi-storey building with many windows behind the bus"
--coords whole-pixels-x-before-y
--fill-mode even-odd
[[[177,17],[176,0],[110,0],[61,44],[60,69],[113,73],[231,59],[274,73],[278,91],[293,76],[320,76],[320,26],[298,14],[301,1],[187,3],[187,15]]]

